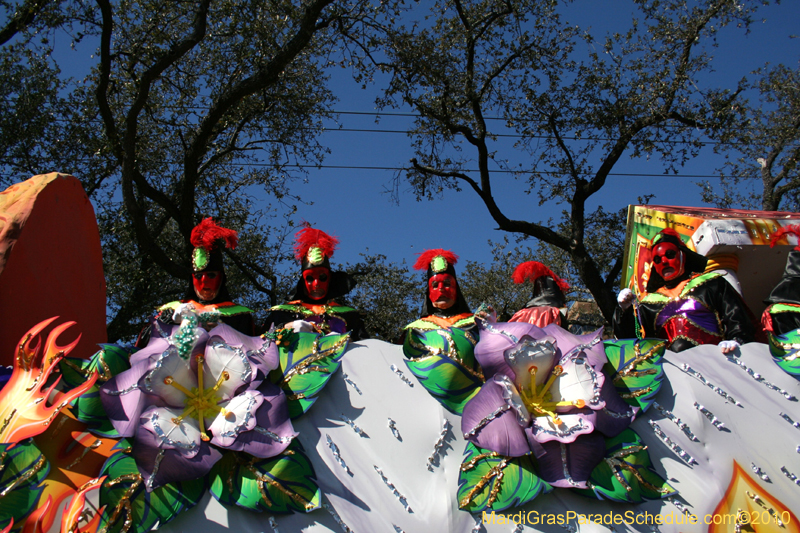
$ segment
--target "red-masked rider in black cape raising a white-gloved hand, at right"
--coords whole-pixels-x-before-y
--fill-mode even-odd
[[[640,301],[630,289],[619,293],[618,337],[667,339],[674,352],[718,344],[722,353],[730,353],[753,342],[747,307],[722,272],[704,272],[707,259],[687,248],[670,228],[655,236],[651,250],[647,292]]]

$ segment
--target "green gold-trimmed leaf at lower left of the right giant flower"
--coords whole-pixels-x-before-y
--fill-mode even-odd
[[[471,513],[503,511],[553,490],[529,455],[506,457],[467,443],[458,475],[458,506]]]

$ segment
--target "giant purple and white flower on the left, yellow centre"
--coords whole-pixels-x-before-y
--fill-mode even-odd
[[[285,394],[264,381],[278,366],[274,343],[193,325],[153,335],[101,389],[114,428],[133,437],[148,490],[205,475],[220,449],[272,457],[296,436]]]

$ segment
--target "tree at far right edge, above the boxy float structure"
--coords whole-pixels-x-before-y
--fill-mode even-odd
[[[703,199],[718,207],[800,211],[800,69],[784,65],[755,73],[755,102],[722,134],[722,183],[703,184]]]

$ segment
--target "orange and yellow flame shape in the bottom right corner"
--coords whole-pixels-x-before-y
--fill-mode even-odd
[[[780,500],[766,491],[736,461],[728,490],[710,517],[709,533],[798,533],[797,517]]]

